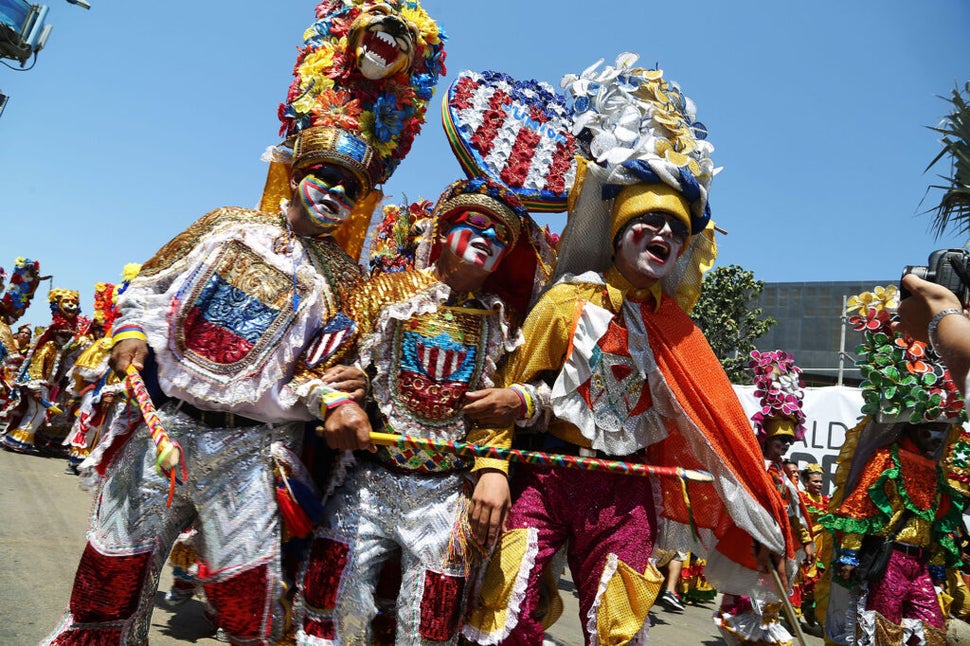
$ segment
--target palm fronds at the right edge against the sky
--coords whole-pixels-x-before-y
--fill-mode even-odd
[[[970,96],[970,82],[964,85],[963,92]],[[942,135],[940,141],[943,150],[923,171],[926,172],[944,157],[950,158],[950,176],[939,175],[945,183],[929,187],[944,191],[939,205],[928,211],[934,214],[932,229],[937,238],[951,225],[970,233],[970,103],[959,87],[953,89],[949,101],[953,105],[953,112],[944,117],[938,126],[930,128]]]

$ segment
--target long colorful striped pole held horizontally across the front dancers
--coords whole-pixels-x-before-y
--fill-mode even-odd
[[[540,466],[561,467],[565,469],[584,469],[586,471],[608,471],[622,475],[663,476],[681,478],[693,482],[713,482],[714,476],[707,471],[698,469],[684,469],[683,467],[661,467],[636,462],[622,462],[619,460],[603,460],[601,458],[583,458],[557,453],[543,453],[541,451],[521,451],[493,446],[480,446],[467,442],[452,442],[446,440],[431,440],[410,435],[394,435],[392,433],[371,433],[370,441],[384,446],[396,446],[399,449],[423,449],[426,451],[447,451],[464,457],[495,458],[510,462],[523,462]]]

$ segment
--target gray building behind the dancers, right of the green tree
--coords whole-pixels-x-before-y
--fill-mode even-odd
[[[796,365],[802,369],[806,386],[838,383],[840,352],[844,348],[842,383],[858,385],[859,370],[854,356],[862,335],[848,324],[843,303],[850,296],[871,292],[877,285],[886,287],[897,283],[898,279],[765,283],[758,305],[765,316],[771,316],[778,323],[755,344],[762,351],[792,353]]]

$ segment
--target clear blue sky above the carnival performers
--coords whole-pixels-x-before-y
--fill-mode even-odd
[[[115,282],[207,211],[254,206],[259,160],[314,2],[46,0],[53,33],[26,72],[0,67],[0,266],[40,260],[54,286]],[[919,213],[939,150],[926,126],[970,78],[970,3],[427,0],[463,69],[545,80],[622,51],[659,63],[698,106],[719,264],[768,282],[896,279],[934,240]],[[8,61],[9,62],[9,61]],[[16,65],[16,63],[13,63]],[[385,187],[434,199],[460,168],[439,87]],[[942,170],[942,169],[941,169]],[[551,216],[561,229],[565,216]],[[47,285],[23,319],[46,324]]]

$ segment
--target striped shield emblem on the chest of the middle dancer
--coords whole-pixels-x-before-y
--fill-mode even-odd
[[[487,338],[486,317],[458,308],[402,321],[389,384],[395,413],[425,427],[461,424],[462,399],[479,383]]]

